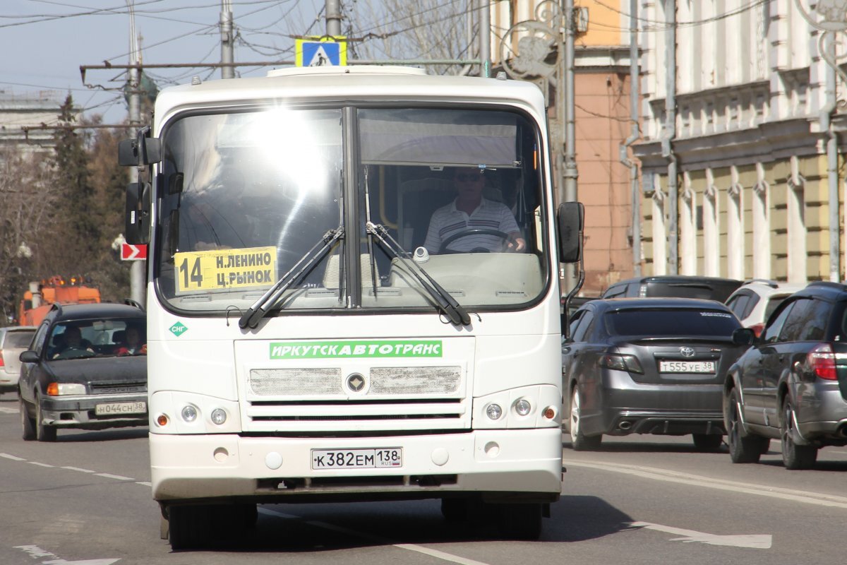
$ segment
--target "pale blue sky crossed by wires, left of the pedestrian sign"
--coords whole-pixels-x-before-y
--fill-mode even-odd
[[[55,91],[70,93],[86,116],[101,114],[104,124],[126,118],[119,90],[124,69],[80,65],[128,64],[130,16],[145,64],[220,61],[220,0],[3,0],[0,2],[0,91],[4,96]],[[235,61],[293,60],[294,39],[326,29],[323,0],[231,0],[239,36]],[[264,75],[268,68],[241,67],[236,76]],[[149,69],[159,88],[185,84],[194,75],[220,78],[220,69]]]

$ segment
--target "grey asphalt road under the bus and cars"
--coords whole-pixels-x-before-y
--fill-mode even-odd
[[[538,542],[446,523],[435,501],[260,507],[255,533],[210,551],[170,551],[158,535],[147,429],[20,439],[17,402],[0,396],[0,563],[844,562],[847,449],[787,471],[778,444],[756,465],[699,453],[688,437],[565,441],[562,500]]]

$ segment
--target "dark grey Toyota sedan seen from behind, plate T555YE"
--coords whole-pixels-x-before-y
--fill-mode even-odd
[[[562,343],[565,426],[573,449],[603,435],[694,436],[717,450],[725,433],[723,376],[745,350],[725,306],[694,298],[587,302]]]

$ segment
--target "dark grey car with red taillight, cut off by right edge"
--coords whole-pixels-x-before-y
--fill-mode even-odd
[[[723,413],[733,463],[755,463],[772,438],[786,468],[810,468],[822,446],[847,445],[847,285],[814,282],[789,296],[729,368]]]

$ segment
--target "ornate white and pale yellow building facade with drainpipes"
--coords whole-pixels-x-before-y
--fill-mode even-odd
[[[844,280],[844,82],[818,24],[845,8],[639,7],[644,273]]]

